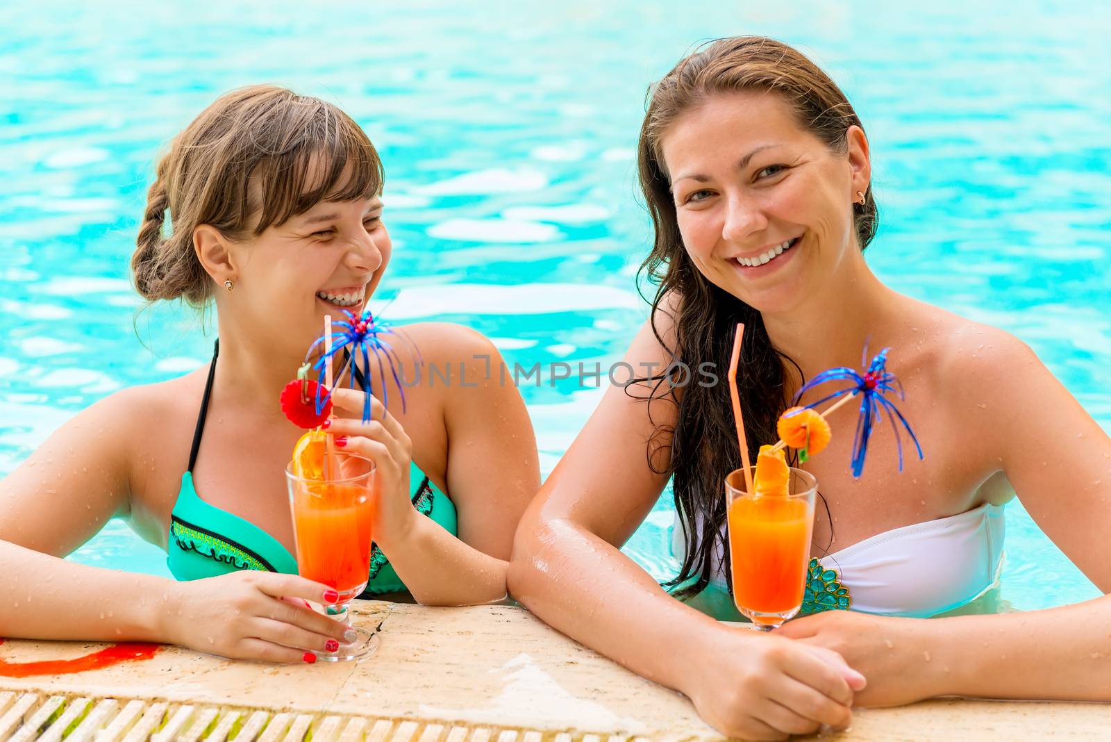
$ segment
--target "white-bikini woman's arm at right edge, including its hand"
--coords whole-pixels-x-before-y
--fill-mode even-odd
[[[994,329],[983,343],[978,358],[953,368],[961,380],[952,384],[954,414],[1041,529],[1107,592],[1111,439],[1023,343]],[[831,612],[780,632],[841,652],[869,679],[863,704],[950,694],[1111,701],[1109,625],[1111,595],[1104,595],[1050,610],[945,619]]]

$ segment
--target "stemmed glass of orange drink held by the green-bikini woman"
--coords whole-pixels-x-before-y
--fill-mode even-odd
[[[336,652],[317,652],[320,660],[339,662],[372,654],[379,638],[351,625],[349,603],[370,579],[371,523],[378,503],[374,462],[336,451],[334,464],[323,479],[307,479],[286,468],[289,504],[293,513],[298,573],[339,593],[332,605],[311,604],[313,610],[346,623],[358,636]],[[349,634],[350,635],[350,634]]]

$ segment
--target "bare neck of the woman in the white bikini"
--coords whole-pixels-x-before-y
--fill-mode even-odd
[[[864,344],[895,295],[858,253],[790,311],[762,317],[772,344],[809,379],[837,365],[857,368]],[[883,341],[871,338],[872,345]]]

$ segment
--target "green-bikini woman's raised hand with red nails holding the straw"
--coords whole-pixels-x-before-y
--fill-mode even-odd
[[[336,437],[336,445],[367,457],[374,462],[378,507],[374,509],[374,541],[397,543],[407,538],[417,519],[409,495],[409,467],[412,441],[401,423],[380,401],[371,398],[371,420],[362,421],[363,394],[352,389],[332,392],[337,417],[326,425]]]

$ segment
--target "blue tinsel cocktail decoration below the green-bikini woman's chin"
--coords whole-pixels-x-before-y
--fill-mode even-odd
[[[390,337],[406,338],[404,333],[397,332],[390,329],[389,323],[381,322],[374,319],[373,313],[370,308],[362,310],[360,315],[356,315],[352,312],[342,310],[346,319],[332,322],[332,343],[331,348],[321,353],[320,358],[312,363],[312,368],[318,373],[317,387],[317,398],[316,398],[316,409],[317,414],[320,414],[323,409],[324,402],[332,394],[332,390],[327,389],[324,385],[324,367],[329,359],[333,359],[337,353],[346,351],[347,358],[343,361],[343,365],[336,373],[337,383],[338,380],[343,378],[343,373],[351,368],[350,374],[350,387],[354,389],[356,381],[362,385],[363,392],[363,407],[362,407],[362,421],[370,422],[371,414],[371,403],[370,400],[373,397],[373,383],[370,375],[370,357],[371,354],[378,359],[378,375],[380,389],[382,390],[382,404],[383,407],[389,407],[389,392],[387,391],[386,384],[386,369],[389,368],[390,375],[393,378],[394,383],[397,383],[398,389],[401,393],[401,410],[406,409],[406,391],[404,384],[401,382],[401,377],[398,373],[399,368],[403,364],[401,359],[398,357],[397,351],[390,345]],[[313,352],[323,345],[324,335],[320,335],[317,340],[309,347],[309,351],[306,354],[306,359],[310,358]],[[412,345],[411,341],[410,344]],[[420,351],[417,350],[416,345],[412,349],[417,352],[418,358],[420,357]],[[360,365],[361,363],[361,365]],[[336,365],[333,361],[333,365]]]

